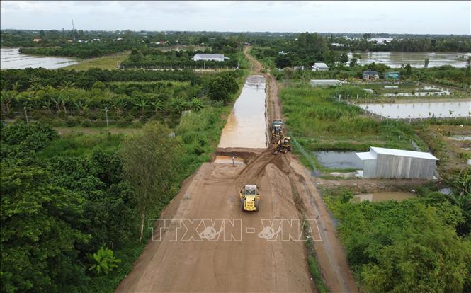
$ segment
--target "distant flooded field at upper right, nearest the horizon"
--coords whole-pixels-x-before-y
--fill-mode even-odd
[[[424,60],[429,58],[429,67],[451,65],[466,67],[463,56],[471,56],[469,52],[355,52],[359,54],[358,64],[382,63],[392,68],[400,68],[402,64],[411,64],[412,67],[424,67]],[[348,59],[353,53],[348,53]]]

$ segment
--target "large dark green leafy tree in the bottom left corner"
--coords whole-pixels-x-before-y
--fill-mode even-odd
[[[40,168],[1,163],[1,291],[57,292],[79,275],[74,246],[89,241],[77,193]]]

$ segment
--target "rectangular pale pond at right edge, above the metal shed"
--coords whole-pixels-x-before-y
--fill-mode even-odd
[[[361,103],[358,107],[382,117],[407,119],[428,117],[468,117],[471,100],[422,101],[414,103]]]

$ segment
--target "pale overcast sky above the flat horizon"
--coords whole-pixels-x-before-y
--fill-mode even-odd
[[[471,1],[1,1],[1,29],[471,34]]]

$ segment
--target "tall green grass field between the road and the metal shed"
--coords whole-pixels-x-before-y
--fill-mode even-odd
[[[312,151],[368,151],[370,146],[413,150],[410,139],[426,149],[411,125],[402,121],[378,120],[363,114],[355,105],[334,99],[339,93],[356,94],[356,86],[341,88],[312,88],[307,84],[289,84],[283,88],[283,114],[290,135],[306,150],[314,165],[324,172],[336,170],[324,168]]]

